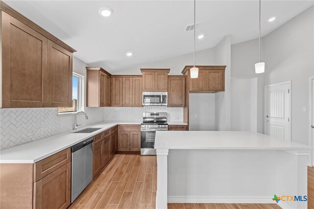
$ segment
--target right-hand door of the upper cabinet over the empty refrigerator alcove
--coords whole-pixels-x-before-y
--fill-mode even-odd
[[[207,70],[207,91],[225,91],[225,71]]]

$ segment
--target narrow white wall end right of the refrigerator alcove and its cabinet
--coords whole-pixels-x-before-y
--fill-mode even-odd
[[[214,48],[215,65],[226,65],[225,91],[215,93],[215,130],[230,130],[231,35]]]

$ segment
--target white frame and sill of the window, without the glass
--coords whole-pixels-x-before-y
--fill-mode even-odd
[[[77,99],[77,111],[69,111],[69,112],[57,112],[58,115],[74,115],[78,111],[84,111],[84,82],[85,76],[78,74],[76,72],[72,73],[72,77],[76,77],[78,79],[78,99]],[[73,88],[73,83],[72,83]],[[72,99],[73,100],[73,99]],[[57,110],[58,111],[58,110]]]

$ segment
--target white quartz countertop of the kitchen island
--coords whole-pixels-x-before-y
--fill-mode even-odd
[[[155,148],[310,150],[312,147],[256,132],[157,131]]]

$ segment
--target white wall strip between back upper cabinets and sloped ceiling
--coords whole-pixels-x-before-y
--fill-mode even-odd
[[[213,48],[196,51],[195,65],[214,65],[214,56]],[[114,71],[113,74],[142,74],[140,71],[141,68],[170,68],[169,75],[179,75],[186,65],[193,65],[193,53],[183,54],[151,63],[143,63],[132,68]]]

